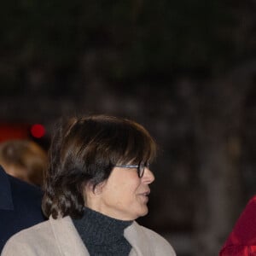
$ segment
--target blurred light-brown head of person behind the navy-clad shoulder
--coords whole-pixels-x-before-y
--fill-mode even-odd
[[[0,165],[5,172],[39,187],[43,183],[47,153],[31,140],[9,140],[0,143]]]

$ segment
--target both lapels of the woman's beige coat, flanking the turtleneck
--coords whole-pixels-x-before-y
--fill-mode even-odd
[[[49,223],[63,255],[90,256],[69,216],[57,219],[49,217]],[[134,221],[125,229],[125,238],[131,243],[130,256],[150,256],[152,254],[148,247],[148,239],[137,222]]]

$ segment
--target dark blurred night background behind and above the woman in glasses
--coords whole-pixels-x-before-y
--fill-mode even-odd
[[[0,123],[43,124],[47,148],[61,115],[135,119],[160,145],[139,221],[177,255],[217,255],[256,193],[255,10],[255,0],[4,2]]]

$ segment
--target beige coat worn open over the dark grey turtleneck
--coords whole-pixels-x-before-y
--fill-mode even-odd
[[[133,222],[125,229],[131,244],[129,256],[175,256],[172,246],[152,230]],[[49,218],[22,230],[7,241],[1,256],[89,256],[69,217]]]

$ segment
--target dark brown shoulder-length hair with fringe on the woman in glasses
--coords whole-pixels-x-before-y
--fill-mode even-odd
[[[56,126],[49,148],[44,214],[80,218],[86,183],[95,188],[108,179],[113,166],[152,161],[155,152],[148,131],[129,119],[94,115],[62,121]]]

